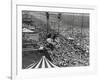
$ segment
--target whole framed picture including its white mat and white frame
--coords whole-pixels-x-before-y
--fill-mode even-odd
[[[94,74],[96,32],[93,6],[13,3],[12,80]]]

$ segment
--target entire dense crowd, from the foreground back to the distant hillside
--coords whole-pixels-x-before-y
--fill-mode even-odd
[[[27,18],[28,14],[23,17],[23,23],[35,26],[37,28],[37,33],[39,34],[39,41],[36,42],[29,39],[29,43],[35,43],[31,46],[38,46],[38,48],[36,47],[37,51],[43,56],[46,56],[53,64],[58,67],[88,66],[89,30],[87,29],[87,31],[83,31],[82,33],[82,29],[79,28],[81,26],[76,27],[75,25],[65,25],[63,27],[63,23],[60,23],[61,14],[57,14],[55,16],[58,16],[57,25],[49,24],[50,15],[48,12],[46,12],[47,23],[43,23],[43,21],[40,21],[39,19],[36,19],[34,17]],[[50,26],[57,26],[57,30],[51,29]],[[70,26],[74,28],[71,28],[71,30],[69,30],[68,28]],[[60,31],[58,27],[60,27],[62,31]],[[57,33],[57,31],[59,33]],[[28,42],[27,39],[28,38],[24,38],[23,36],[23,45]],[[26,48],[27,46],[24,45],[23,47]]]

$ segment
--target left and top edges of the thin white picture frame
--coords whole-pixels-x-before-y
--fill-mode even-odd
[[[12,5],[12,3],[11,3],[11,5]],[[12,51],[12,45],[13,45],[13,43],[12,43],[12,41],[13,41],[13,36],[12,36],[12,34],[13,34],[13,29],[12,29],[12,27],[13,27],[13,25],[12,25],[12,18],[13,18],[13,9],[12,9],[12,7],[13,6],[11,6],[11,79],[13,80],[14,78],[15,78],[15,76],[18,76],[18,41],[17,41],[17,39],[18,39],[18,34],[17,34],[17,16],[18,16],[18,12],[17,12],[17,7],[18,6],[36,6],[36,7],[52,7],[52,8],[70,8],[70,9],[87,9],[87,10],[95,10],[95,8],[79,8],[79,7],[61,7],[61,6],[41,6],[41,5],[26,5],[26,4],[16,4],[16,70],[15,71],[13,71],[13,62],[12,62],[12,60],[13,60],[13,51]],[[13,76],[13,72],[16,72],[16,75],[14,75]]]

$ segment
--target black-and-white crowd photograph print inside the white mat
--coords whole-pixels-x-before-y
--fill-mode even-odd
[[[90,65],[90,14],[22,10],[22,69]]]

